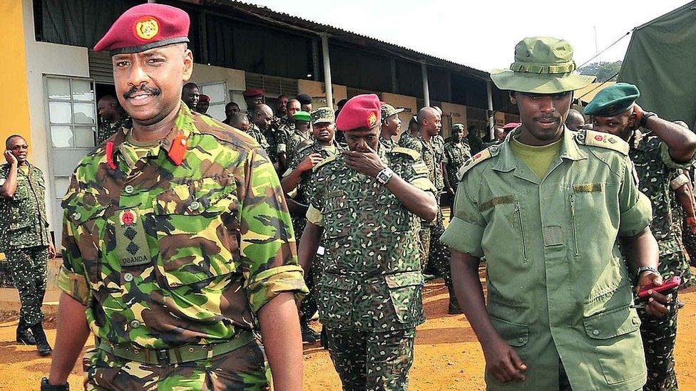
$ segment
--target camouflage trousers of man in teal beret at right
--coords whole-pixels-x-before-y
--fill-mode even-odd
[[[645,391],[678,390],[675,374],[674,346],[677,339],[677,293],[672,295],[670,313],[663,318],[654,318],[642,309],[640,336],[643,338],[645,364],[648,366],[648,382]]]

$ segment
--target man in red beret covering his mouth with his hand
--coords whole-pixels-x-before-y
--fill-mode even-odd
[[[379,144],[379,98],[357,95],[339,113],[349,151],[314,167],[300,262],[326,247],[319,319],[344,390],[406,390],[423,323],[419,220],[437,205],[419,154]]]

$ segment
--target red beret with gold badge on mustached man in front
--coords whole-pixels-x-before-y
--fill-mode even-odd
[[[140,4],[113,22],[94,51],[110,51],[113,56],[188,42],[189,25],[188,14],[181,9],[164,4]]]

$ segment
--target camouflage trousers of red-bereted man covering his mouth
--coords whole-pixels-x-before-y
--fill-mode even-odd
[[[329,355],[343,390],[408,390],[415,328],[360,331],[327,328]]]

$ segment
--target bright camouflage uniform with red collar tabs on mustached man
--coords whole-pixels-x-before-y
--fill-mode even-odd
[[[161,142],[112,140],[63,198],[58,286],[97,338],[86,387],[268,389],[257,311],[307,287],[265,152],[183,103]]]

